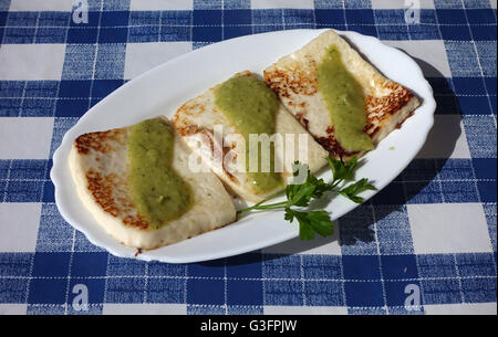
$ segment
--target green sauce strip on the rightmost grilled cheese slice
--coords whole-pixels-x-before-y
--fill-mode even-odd
[[[339,144],[349,152],[373,149],[372,139],[363,131],[367,122],[363,89],[335,45],[326,50],[319,64],[318,78]]]

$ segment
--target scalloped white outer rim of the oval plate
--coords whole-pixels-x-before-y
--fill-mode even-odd
[[[115,89],[114,92],[108,94],[106,97],[104,97],[102,101],[100,101],[97,104],[95,104],[92,108],[86,110],[77,119],[77,122],[70,129],[68,129],[64,133],[64,136],[62,137],[62,140],[61,140],[60,145],[58,146],[58,148],[55,149],[55,151],[53,152],[53,156],[52,156],[53,166],[52,166],[52,169],[50,171],[50,179],[52,180],[52,182],[54,185],[55,204],[56,204],[58,210],[59,210],[60,214],[62,215],[62,218],[71,227],[73,227],[73,229],[82,232],[92,244],[94,244],[94,245],[105,250],[106,252],[108,252],[108,253],[111,253],[111,254],[113,254],[115,256],[118,256],[118,257],[137,259],[137,260],[147,261],[147,262],[149,262],[149,261],[159,261],[159,262],[165,262],[165,263],[193,263],[193,262],[201,262],[201,261],[211,261],[211,260],[216,260],[216,259],[228,257],[228,256],[234,256],[234,255],[238,255],[238,254],[246,253],[246,252],[251,252],[251,251],[255,251],[255,250],[258,250],[258,249],[262,249],[262,248],[266,248],[266,246],[271,246],[273,244],[278,244],[278,243],[284,242],[287,240],[297,238],[298,236],[298,231],[294,229],[293,231],[289,231],[288,235],[283,235],[283,236],[277,239],[273,242],[271,240],[269,240],[269,241],[266,241],[263,244],[255,244],[253,243],[250,249],[248,249],[248,245],[245,245],[242,249],[240,249],[238,251],[236,250],[236,251],[230,251],[230,252],[226,252],[226,253],[222,253],[222,251],[221,251],[218,254],[210,254],[206,259],[189,259],[189,257],[181,259],[181,256],[175,259],[175,257],[172,257],[169,255],[167,255],[167,256],[162,256],[162,255],[156,256],[154,254],[153,255],[147,254],[147,252],[154,252],[154,251],[157,251],[157,250],[144,251],[143,253],[134,254],[133,256],[129,255],[129,254],[128,255],[123,254],[123,253],[118,252],[117,250],[115,250],[113,246],[107,245],[104,242],[104,240],[98,238],[100,236],[98,233],[96,233],[96,234],[93,233],[93,231],[92,231],[92,229],[90,227],[87,227],[85,224],[82,224],[82,223],[80,223],[80,221],[75,220],[70,214],[70,212],[68,212],[66,209],[63,207],[63,204],[61,202],[61,200],[62,200],[61,191],[63,189],[63,178],[61,177],[62,173],[60,171],[64,169],[64,165],[66,166],[66,162],[64,162],[64,160],[63,160],[64,158],[62,158],[63,157],[62,151],[63,151],[63,147],[68,144],[68,141],[70,141],[69,135],[72,134],[72,130],[75,129],[79,126],[79,124],[84,123],[89,118],[89,116],[92,115],[95,110],[98,110],[98,108],[100,108],[98,106],[100,105],[105,104],[105,102],[111,99],[110,98],[111,96],[118,95],[120,92],[126,91],[128,86],[136,85],[137,82],[144,81],[144,78],[146,78],[149,74],[160,71],[162,67],[172,66],[172,64],[175,64],[177,62],[181,62],[183,59],[193,57],[193,55],[195,55],[196,53],[200,53],[200,52],[205,52],[206,50],[211,50],[211,49],[219,48],[220,44],[238,43],[238,41],[243,41],[246,39],[255,39],[255,36],[260,36],[260,35],[282,35],[282,34],[286,34],[287,32],[301,32],[301,31],[302,32],[311,32],[311,31],[313,31],[313,32],[323,32],[323,31],[326,31],[326,30],[333,30],[338,34],[340,34],[341,36],[345,36],[347,39],[349,39],[349,35],[356,35],[356,38],[359,38],[359,39],[366,39],[366,40],[370,40],[371,42],[374,42],[375,44],[378,44],[380,46],[383,46],[383,48],[386,48],[386,49],[391,49],[393,52],[397,53],[401,59],[404,59],[405,60],[404,62],[411,62],[411,63],[413,63],[413,65],[415,65],[415,69],[417,71],[416,76],[421,77],[421,83],[423,83],[426,86],[427,92],[429,93],[428,97],[423,97],[424,98],[423,104],[427,104],[428,105],[427,108],[430,110],[430,113],[427,113],[427,117],[429,117],[429,119],[426,123],[425,129],[424,130],[419,130],[421,139],[422,139],[422,134],[423,134],[423,139],[424,140],[421,141],[417,146],[414,147],[415,155],[406,164],[400,166],[396,170],[393,170],[394,173],[392,176],[394,178],[392,178],[391,180],[388,180],[386,183],[384,183],[382,186],[376,186],[377,190],[376,191],[370,191],[367,193],[367,196],[365,196],[365,201],[369,200],[370,198],[372,198],[374,194],[376,194],[378,191],[381,191],[385,186],[391,183],[395,179],[395,177],[397,177],[409,165],[409,162],[412,162],[412,160],[415,159],[416,154],[422,149],[422,147],[426,143],[428,133],[430,131],[430,129],[432,129],[432,127],[434,125],[434,113],[435,113],[435,109],[436,109],[436,102],[434,99],[434,91],[433,91],[430,84],[428,83],[428,81],[425,78],[424,73],[423,73],[422,69],[419,67],[419,65],[408,54],[406,54],[405,52],[403,52],[403,51],[401,51],[401,50],[398,50],[398,49],[396,49],[394,46],[384,44],[380,39],[377,39],[375,36],[364,35],[364,34],[361,34],[361,33],[357,33],[357,32],[354,32],[354,31],[340,31],[340,30],[334,30],[334,29],[297,29],[297,30],[284,30],[284,31],[266,32],[266,33],[260,33],[260,34],[249,34],[249,35],[245,35],[245,36],[228,39],[228,40],[224,40],[224,41],[220,41],[220,42],[217,42],[217,43],[212,43],[212,44],[209,44],[207,46],[204,46],[204,48],[200,48],[200,49],[197,49],[197,50],[193,50],[193,51],[190,51],[188,53],[178,55],[178,56],[176,56],[176,57],[174,57],[172,60],[168,60],[168,61],[166,61],[166,62],[164,62],[162,64],[158,64],[158,65],[154,66],[153,69],[142,73],[141,75],[129,80],[124,85],[120,86],[117,89]],[[347,41],[347,42],[351,44],[351,41]],[[305,43],[308,43],[308,42],[305,42]],[[356,45],[354,43],[353,43],[353,46],[359,52],[361,52],[361,46],[359,46],[359,45]],[[284,56],[284,55],[281,55],[281,56]],[[281,56],[279,56],[279,57],[281,57]],[[371,63],[370,60],[367,60],[367,62]],[[373,63],[371,63],[371,64],[373,64]],[[375,64],[373,64],[373,65],[375,66]],[[68,169],[68,168],[65,168],[65,169]],[[360,204],[353,204],[352,207],[351,206],[346,207],[347,210],[343,214],[339,215],[338,218],[343,217],[345,213],[351,212],[357,206],[360,206]],[[237,221],[235,223],[237,223]],[[231,225],[231,224],[229,224],[229,225]],[[207,233],[209,233],[209,232],[207,232]],[[207,234],[207,233],[204,233],[204,234]],[[105,233],[105,234],[110,235],[108,233]],[[282,240],[282,238],[283,238],[283,240]],[[112,238],[112,240],[115,240],[115,239]],[[118,244],[123,245],[122,243],[118,243]],[[125,245],[123,245],[123,246],[125,246]],[[137,249],[133,249],[133,248],[129,248],[129,249],[131,250],[137,250]]]

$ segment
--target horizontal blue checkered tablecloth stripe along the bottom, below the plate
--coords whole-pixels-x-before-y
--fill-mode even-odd
[[[187,304],[191,314],[262,314],[264,306],[272,305],[349,306],[350,313],[405,314],[409,313],[404,308],[408,284],[423,289],[426,305],[496,298],[492,254],[250,253],[169,265],[117,259],[85,248],[82,241],[68,239],[74,245],[72,253],[2,253],[1,302],[28,303],[29,313],[64,314],[72,310],[76,284],[89,288],[87,313],[101,313],[106,303],[177,303]]]

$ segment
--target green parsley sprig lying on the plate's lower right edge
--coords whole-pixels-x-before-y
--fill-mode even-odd
[[[332,235],[334,224],[330,219],[330,214],[324,210],[311,210],[310,203],[321,199],[325,193],[338,193],[356,203],[364,200],[359,194],[366,190],[375,190],[375,187],[363,178],[356,182],[345,187],[340,187],[343,182],[354,180],[354,171],[357,168],[357,158],[353,157],[347,164],[335,158],[326,158],[329,167],[332,170],[332,181],[325,182],[310,173],[308,166],[294,162],[294,180],[300,171],[307,170],[307,180],[302,183],[290,183],[286,188],[287,200],[276,203],[267,203],[270,199],[281,194],[282,192],[271,196],[255,206],[239,210],[237,213],[243,213],[251,210],[278,210],[286,211],[284,219],[289,222],[298,220],[299,236],[301,240],[311,240],[318,233],[322,236]],[[298,208],[298,209],[295,209]]]

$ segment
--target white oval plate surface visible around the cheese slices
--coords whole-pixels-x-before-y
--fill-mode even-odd
[[[55,185],[55,202],[62,217],[95,245],[122,257],[135,257],[136,249],[115,241],[84,209],[68,168],[68,154],[75,137],[135,124],[159,114],[172,117],[184,102],[234,73],[249,70],[262,74],[264,67],[317,38],[323,30],[290,30],[222,41],[166,62],[126,83],[92,107],[62,139],[50,172]],[[423,104],[401,129],[391,133],[365,156],[356,177],[367,177],[381,190],[415,157],[433,125],[436,103],[430,85],[418,65],[403,52],[375,38],[339,32],[387,77],[415,92]],[[392,149],[394,147],[394,150]],[[391,148],[391,149],[390,149]],[[322,178],[329,180],[330,172]],[[375,192],[363,196],[371,198]],[[357,204],[334,198],[326,210],[338,219]],[[179,243],[144,251],[136,259],[169,263],[199,262],[246,253],[298,236],[295,223],[283,220],[282,211],[243,217],[236,223]]]

